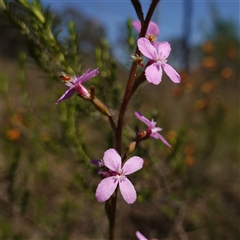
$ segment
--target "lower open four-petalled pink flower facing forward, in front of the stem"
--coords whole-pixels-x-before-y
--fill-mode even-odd
[[[97,187],[96,198],[99,202],[107,201],[118,184],[124,200],[132,204],[137,199],[133,184],[126,177],[142,168],[143,159],[137,156],[129,158],[122,167],[122,159],[113,148],[108,149],[103,156],[105,167],[109,168],[111,176],[104,178]]]

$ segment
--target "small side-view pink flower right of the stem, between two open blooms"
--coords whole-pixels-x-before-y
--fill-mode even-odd
[[[148,126],[146,130],[146,137],[150,136],[155,139],[160,139],[165,145],[167,145],[168,147],[171,147],[171,145],[164,139],[164,137],[160,133],[158,133],[159,131],[162,131],[162,128],[155,127],[157,123],[154,122],[153,119],[150,122],[147,118],[145,118],[139,112],[135,112],[135,116]]]

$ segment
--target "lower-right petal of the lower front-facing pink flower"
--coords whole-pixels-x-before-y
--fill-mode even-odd
[[[123,196],[123,199],[128,203],[132,204],[137,199],[137,193],[133,186],[133,184],[128,180],[128,178],[124,178],[119,182],[120,192]]]

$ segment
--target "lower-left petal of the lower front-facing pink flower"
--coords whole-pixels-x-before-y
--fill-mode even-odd
[[[116,177],[107,177],[104,178],[97,187],[96,190],[96,198],[99,202],[107,201],[112,194],[114,193],[115,189],[117,188],[118,181]]]

